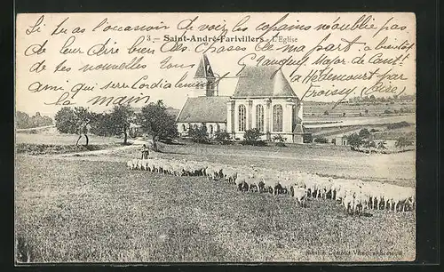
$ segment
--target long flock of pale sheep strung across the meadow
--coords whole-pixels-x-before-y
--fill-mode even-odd
[[[270,192],[274,196],[288,194],[295,198],[297,206],[304,205],[307,197],[322,197],[340,202],[346,212],[351,214],[361,215],[366,209],[385,209],[394,212],[415,209],[415,188],[377,181],[333,179],[312,173],[258,168],[254,165],[233,167],[225,164],[155,157],[132,159],[128,161],[127,166],[131,170],[227,180],[242,192]]]

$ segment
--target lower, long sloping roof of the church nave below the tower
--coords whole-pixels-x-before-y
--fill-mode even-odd
[[[227,96],[189,97],[178,114],[179,123],[226,122]]]

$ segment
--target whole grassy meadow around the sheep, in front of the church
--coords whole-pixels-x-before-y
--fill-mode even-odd
[[[225,181],[130,171],[126,161],[139,157],[141,140],[122,146],[121,138],[91,136],[91,148],[75,147],[76,140],[76,135],[53,130],[16,133],[19,261],[415,258],[415,212],[372,210],[352,216],[330,199],[309,199],[304,207],[296,207],[289,196],[242,193]],[[159,143],[159,148],[162,152],[151,156],[416,186],[414,151],[365,155],[325,144],[250,147],[191,142]]]

